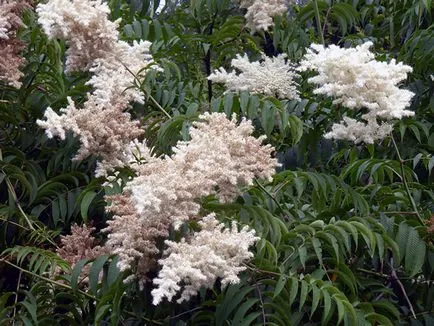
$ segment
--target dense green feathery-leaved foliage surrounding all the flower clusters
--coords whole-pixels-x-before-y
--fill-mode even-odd
[[[78,147],[71,135],[48,139],[36,125],[47,106],[83,99],[89,76],[64,74],[65,44],[48,41],[29,10],[20,31],[28,61],[23,85],[0,83],[0,323],[434,324],[430,0],[300,1],[269,32],[253,35],[243,10],[228,0],[166,0],[158,13],[158,0],[108,2],[111,19],[122,18],[122,37],[152,41],[164,68],[141,86],[171,118],[152,101],[132,110],[150,147],[167,153],[206,111],[248,117],[275,146],[283,166],[272,183],[256,183],[232,204],[203,199],[205,209],[253,227],[261,240],[240,284],[216,284],[183,304],[153,306],[151,286],[124,284],[116,257],[83,260],[53,276],[69,268],[55,254],[59,235],[91,222],[102,240],[110,218],[104,196],[120,189],[93,176],[94,158],[71,161]],[[223,94],[206,78],[238,53],[286,53],[298,61],[322,37],[340,46],[371,40],[377,59],[413,67],[407,87],[416,93],[416,115],[397,122],[393,138],[375,145],[324,139],[343,109],[314,95],[306,78],[301,101]]]

